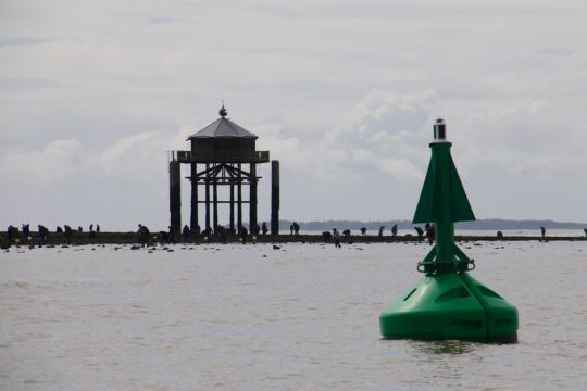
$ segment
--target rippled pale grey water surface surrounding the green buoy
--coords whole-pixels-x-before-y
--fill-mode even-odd
[[[586,389],[587,241],[461,248],[520,343],[379,338],[425,244],[11,249],[0,389]]]

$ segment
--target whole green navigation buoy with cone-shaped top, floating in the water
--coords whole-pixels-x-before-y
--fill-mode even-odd
[[[379,316],[384,338],[517,342],[517,310],[469,275],[475,268],[454,244],[454,222],[474,220],[450,155],[446,124],[434,125],[432,159],[413,223],[434,223],[436,244],[417,264],[425,276]]]

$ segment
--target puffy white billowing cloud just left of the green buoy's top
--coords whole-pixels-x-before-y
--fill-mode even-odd
[[[424,130],[437,101],[432,90],[373,90],[326,134],[323,148],[341,152],[346,169],[364,164],[400,181],[420,180]]]

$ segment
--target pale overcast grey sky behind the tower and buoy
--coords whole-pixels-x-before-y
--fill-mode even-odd
[[[0,227],[166,228],[166,151],[223,101],[280,162],[284,219],[411,219],[441,117],[477,218],[587,222],[585,21],[583,0],[0,0]]]

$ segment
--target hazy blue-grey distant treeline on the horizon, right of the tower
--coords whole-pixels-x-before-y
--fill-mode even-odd
[[[297,222],[302,230],[324,231],[330,230],[334,227],[338,229],[361,229],[366,227],[369,230],[379,229],[385,226],[389,229],[394,224],[398,225],[398,229],[413,229],[422,224],[412,224],[410,220],[388,220],[388,222],[358,222],[358,220],[326,220],[326,222]],[[280,230],[289,230],[294,224],[292,220],[279,220]],[[500,218],[487,218],[476,222],[457,223],[457,229],[478,229],[478,230],[507,230],[507,229],[584,229],[587,228],[587,223],[561,223],[553,220],[508,220]]]

